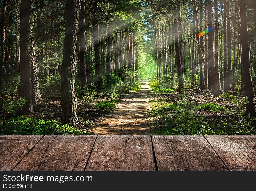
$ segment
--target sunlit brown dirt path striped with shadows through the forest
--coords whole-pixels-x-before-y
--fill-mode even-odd
[[[152,135],[149,122],[149,82],[141,83],[141,90],[122,98],[102,123],[93,128],[95,135]]]

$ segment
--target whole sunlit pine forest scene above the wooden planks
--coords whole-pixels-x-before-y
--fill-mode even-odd
[[[0,135],[256,134],[256,0],[0,2]]]

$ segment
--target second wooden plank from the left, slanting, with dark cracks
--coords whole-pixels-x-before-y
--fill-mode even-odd
[[[14,170],[84,170],[96,136],[49,135]]]

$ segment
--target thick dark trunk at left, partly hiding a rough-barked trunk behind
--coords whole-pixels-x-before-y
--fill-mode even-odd
[[[33,112],[32,84],[31,84],[31,63],[29,52],[29,20],[30,1],[22,0],[20,3],[20,86],[18,97],[27,99],[26,105],[22,108],[21,114]]]

